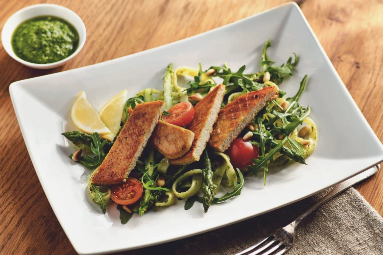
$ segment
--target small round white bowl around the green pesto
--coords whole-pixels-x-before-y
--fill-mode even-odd
[[[37,17],[37,16],[45,16],[45,15],[51,15],[51,16],[56,16],[56,17],[65,19],[66,21],[71,23],[74,26],[74,28],[76,28],[78,32],[78,36],[79,36],[79,39],[78,39],[79,41],[78,41],[78,46],[76,51],[73,52],[67,58],[64,58],[60,61],[49,63],[49,64],[30,63],[28,61],[20,59],[19,57],[16,56],[16,54],[14,54],[12,50],[11,37],[12,37],[12,33],[14,29],[16,29],[16,27],[19,24],[21,24],[27,19]],[[26,65],[32,68],[37,68],[37,69],[49,69],[49,68],[54,68],[54,67],[63,65],[64,63],[72,59],[74,56],[76,56],[80,52],[80,50],[84,46],[85,39],[86,39],[86,29],[82,19],[74,11],[68,8],[65,8],[57,4],[49,4],[49,3],[34,4],[16,11],[12,16],[8,18],[8,20],[5,22],[4,27],[2,28],[2,31],[1,31],[2,46],[4,47],[8,55],[23,65]]]

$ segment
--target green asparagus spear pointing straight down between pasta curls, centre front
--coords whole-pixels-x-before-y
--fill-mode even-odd
[[[214,189],[216,188],[216,186],[213,183],[213,170],[211,169],[211,161],[209,156],[207,155],[206,149],[204,150],[203,154],[204,154],[203,169],[202,169],[203,209],[205,213],[207,213],[207,210],[209,209],[209,206],[211,205],[211,202],[214,199]]]

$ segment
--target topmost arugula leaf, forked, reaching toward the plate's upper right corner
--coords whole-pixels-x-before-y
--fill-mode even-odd
[[[276,84],[279,84],[283,81],[284,78],[293,75],[293,71],[295,70],[295,66],[298,64],[298,56],[294,54],[294,62],[292,62],[292,57],[289,57],[286,64],[282,64],[281,66],[274,66],[274,60],[267,56],[267,48],[271,46],[270,39],[265,43],[265,46],[262,50],[261,55],[261,66],[264,72],[270,73],[270,80]]]

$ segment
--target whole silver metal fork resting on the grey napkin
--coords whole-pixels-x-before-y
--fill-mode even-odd
[[[315,203],[312,207],[310,207],[306,212],[298,216],[298,218],[287,225],[284,228],[277,229],[274,231],[269,237],[259,241],[255,245],[247,248],[246,250],[237,253],[236,255],[282,255],[289,251],[291,247],[293,247],[294,239],[295,239],[295,231],[297,229],[298,224],[312,211],[317,209],[320,205],[322,205],[327,200],[335,197],[339,193],[345,191],[350,188],[354,184],[374,175],[379,170],[379,164],[344,181],[339,183],[332,191],[330,191],[326,196],[324,196],[321,200]],[[251,253],[250,253],[251,252]]]

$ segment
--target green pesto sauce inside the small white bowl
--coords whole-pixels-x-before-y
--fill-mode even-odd
[[[78,45],[78,33],[66,20],[38,16],[16,27],[11,44],[13,52],[22,60],[47,64],[73,54]]]

